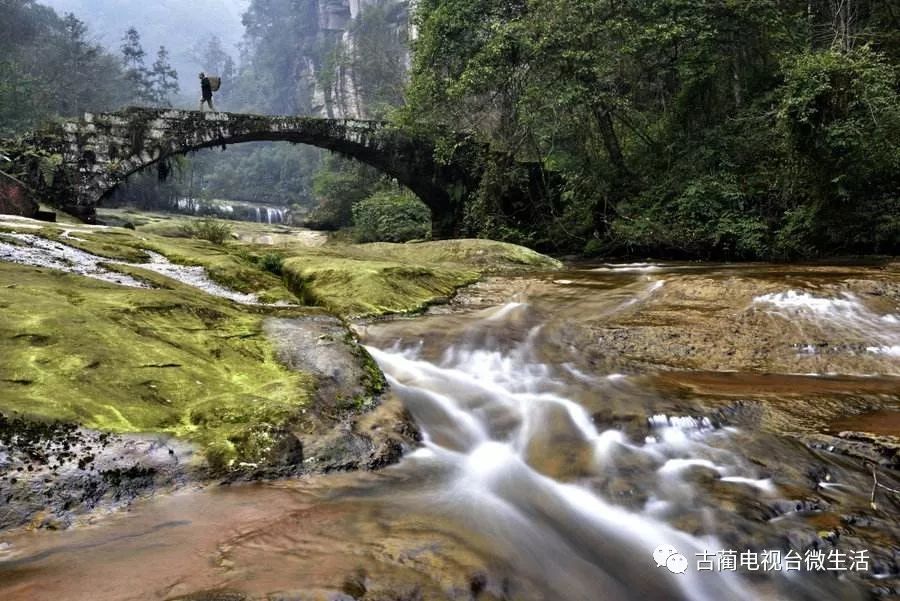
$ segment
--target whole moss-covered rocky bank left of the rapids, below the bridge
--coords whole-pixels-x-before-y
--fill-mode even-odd
[[[485,273],[558,266],[489,241],[310,245],[303,232],[263,224],[232,224],[225,243],[213,244],[185,237],[191,218],[129,217],[135,229],[0,218],[7,244],[27,241],[4,233],[38,235],[108,258],[105,267],[149,285],[0,262],[0,414],[171,436],[193,444],[202,469],[218,473],[396,456],[397,441],[411,440],[399,424],[406,418],[378,418],[404,433],[381,441],[355,426],[381,410],[383,379],[342,320],[415,312]],[[143,268],[146,251],[202,266],[259,303]]]

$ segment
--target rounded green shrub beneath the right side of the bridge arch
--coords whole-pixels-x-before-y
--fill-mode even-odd
[[[357,242],[407,242],[431,237],[431,210],[409,192],[378,192],[353,207]]]

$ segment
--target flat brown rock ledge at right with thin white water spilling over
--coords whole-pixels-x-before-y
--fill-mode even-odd
[[[881,350],[900,334],[900,272],[862,271],[872,279],[824,268],[805,278],[659,275],[665,284],[645,301],[589,324],[593,346],[661,368],[900,375]]]

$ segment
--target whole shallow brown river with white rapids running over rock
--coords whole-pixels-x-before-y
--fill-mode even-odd
[[[421,430],[399,464],[0,536],[0,598],[867,598],[896,578],[900,507],[869,509],[884,447],[837,433],[900,436],[900,307],[859,283],[892,277],[592,266],[360,324]],[[867,565],[697,569],[789,548]]]

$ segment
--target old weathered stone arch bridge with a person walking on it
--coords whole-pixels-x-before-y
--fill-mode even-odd
[[[441,164],[432,143],[383,122],[147,108],[88,113],[35,133],[26,144],[43,157],[28,179],[39,195],[91,221],[103,197],[136,171],[202,148],[256,141],[310,144],[379,169],[431,208],[436,236],[457,230],[463,199],[480,179],[477,144],[461,140],[461,160]]]

